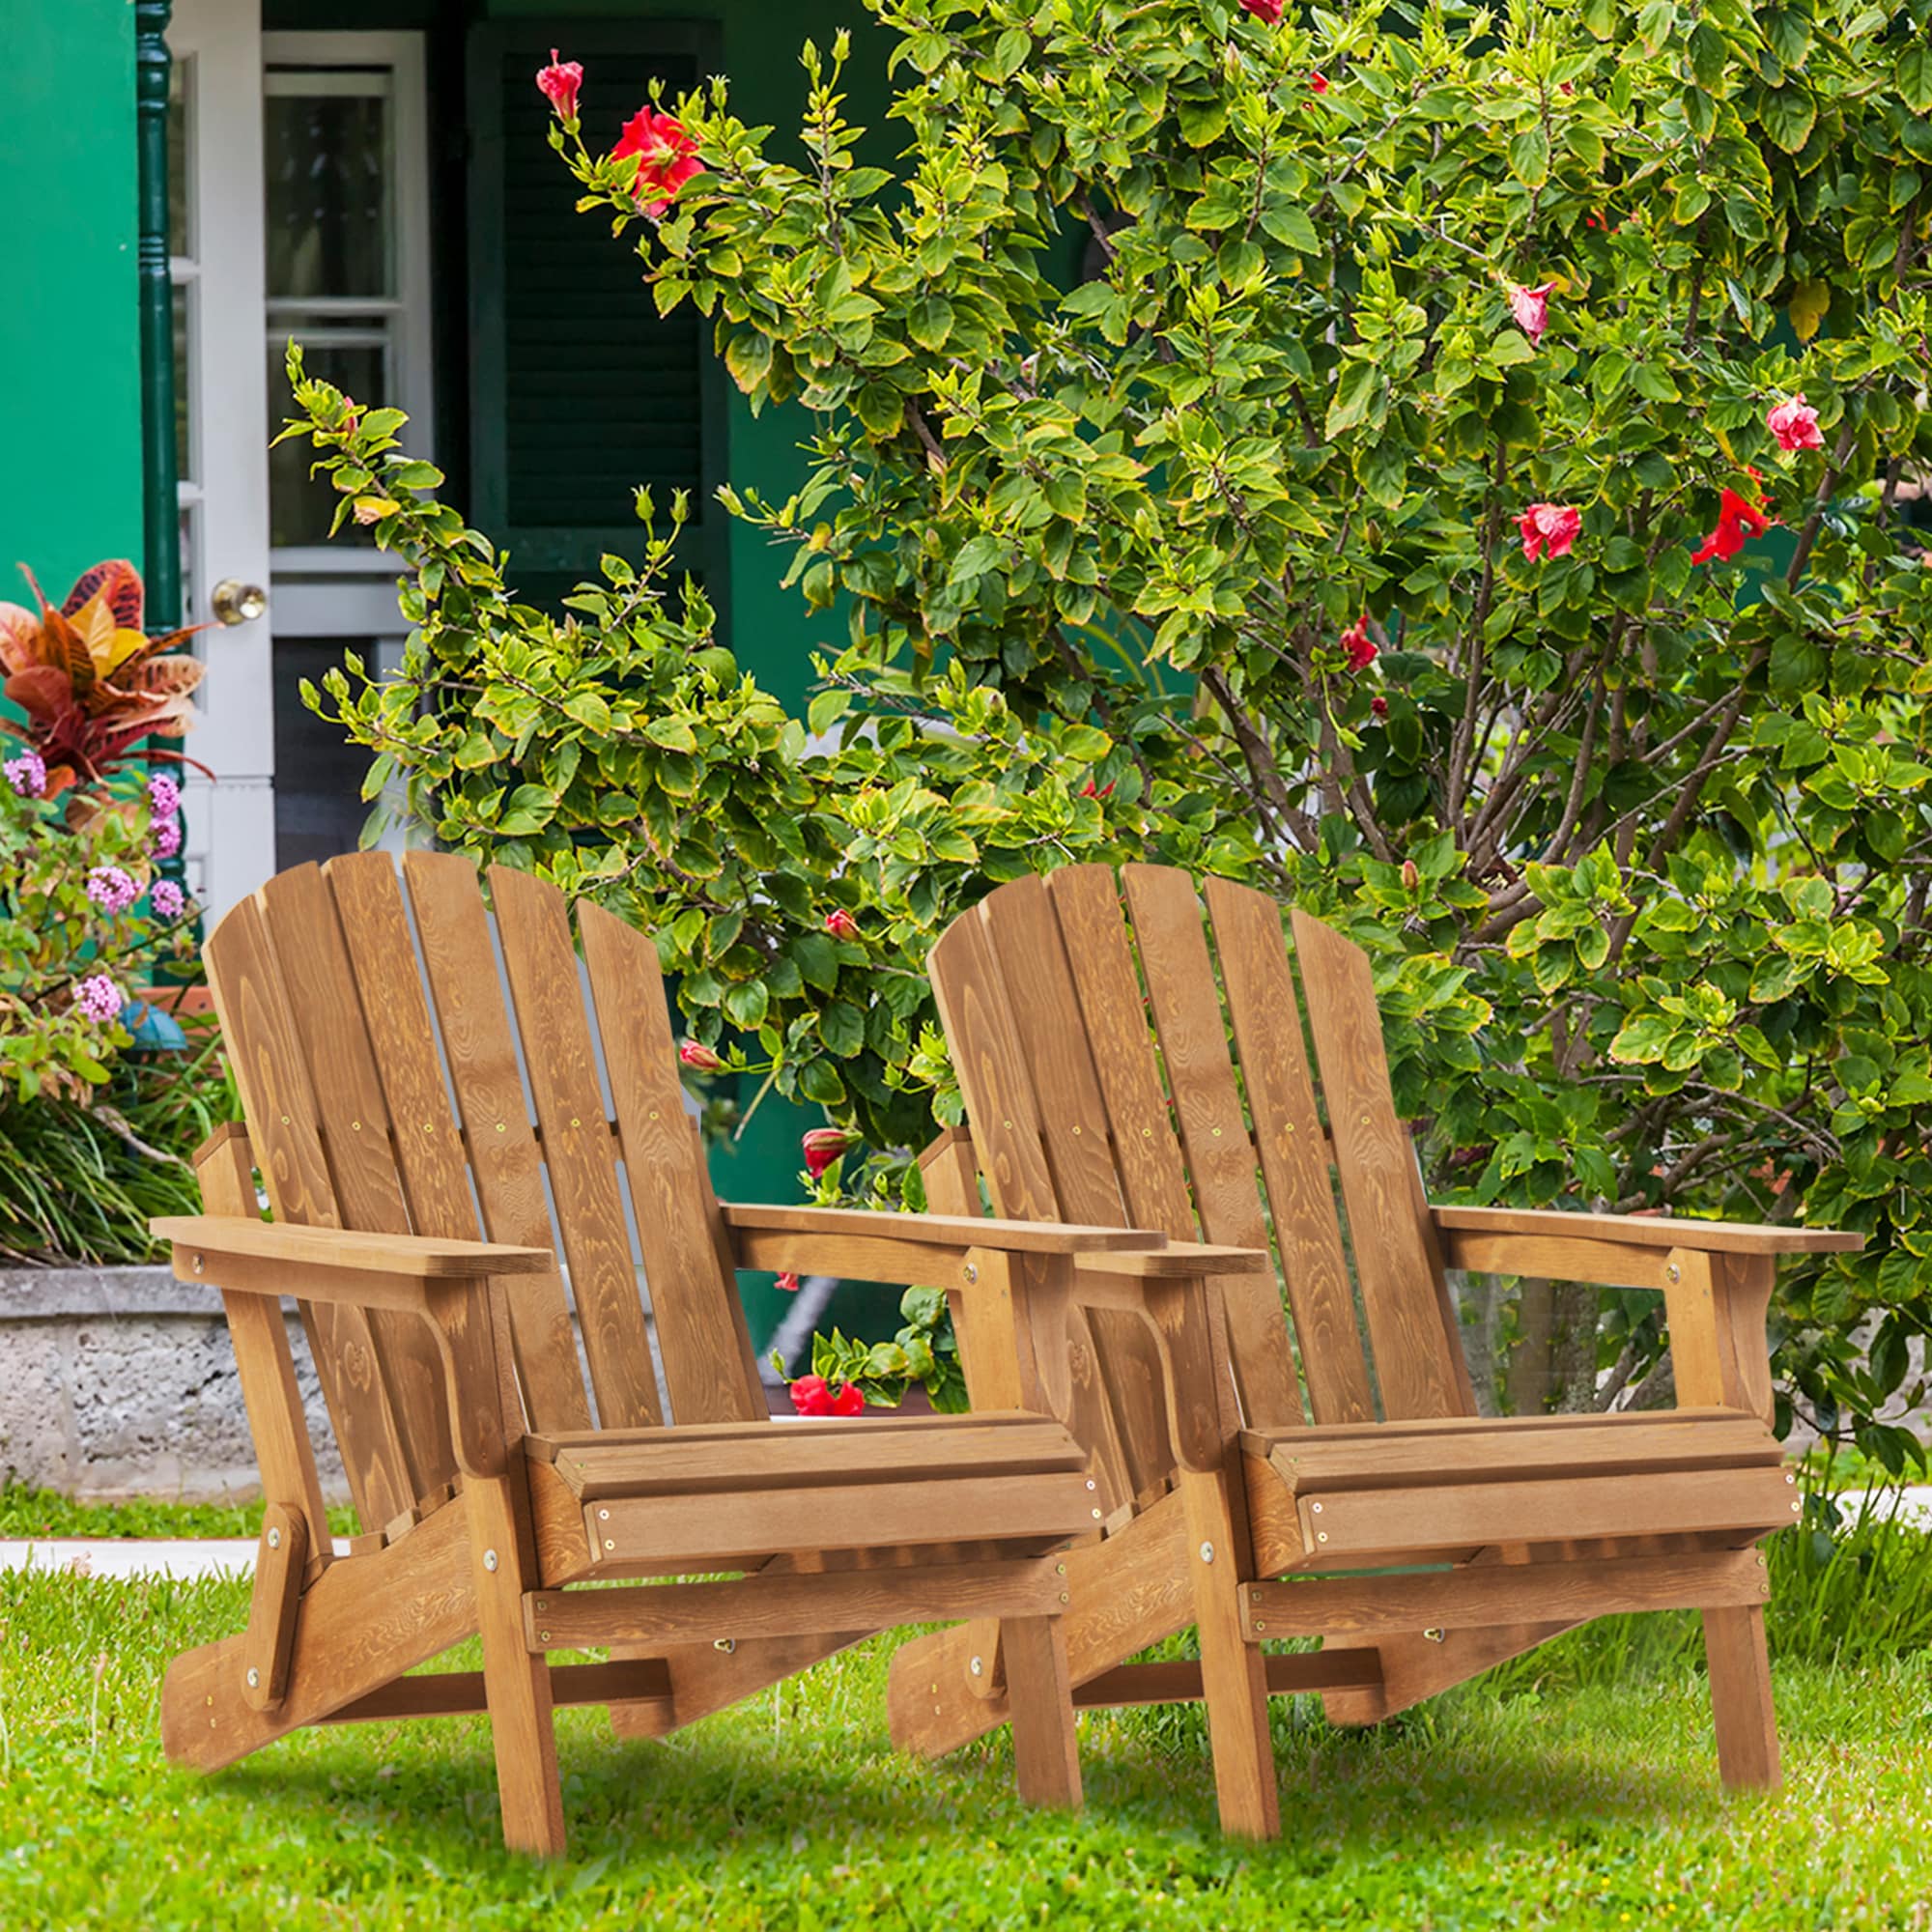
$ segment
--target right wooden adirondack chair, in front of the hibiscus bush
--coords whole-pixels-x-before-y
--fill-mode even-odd
[[[1269,1694],[1368,1723],[1584,1619],[1696,1607],[1723,1777],[1776,1783],[1754,1546],[1799,1501],[1768,1428],[1764,1314],[1776,1256],[1859,1236],[1430,1208],[1366,954],[1296,912],[1291,972],[1273,900],[1209,879],[1206,902],[1204,920],[1184,871],[1080,866],[1001,887],[931,954],[970,1134],[927,1150],[929,1206],[978,1211],[983,1175],[1012,1219],[1273,1238],[1281,1264],[1279,1291],[1271,1269],[1219,1275],[1211,1372],[1165,1418],[1171,1364],[1144,1331],[1063,1314],[1065,1414],[1105,1511],[1068,1557],[1074,1700],[1204,1696],[1221,1820],[1273,1835]],[[1662,1289],[1679,1406],[1478,1418],[1445,1265]],[[1001,1339],[960,1339],[978,1391]],[[1200,1663],[1124,1663],[1190,1623]],[[1264,1652],[1287,1636],[1325,1642]],[[970,1629],[898,1654],[900,1743],[949,1750],[1016,1708],[972,1673],[985,1650]]]

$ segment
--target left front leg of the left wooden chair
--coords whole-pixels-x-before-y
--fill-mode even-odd
[[[483,1636],[483,1689],[497,1750],[502,1837],[543,1859],[564,1851],[564,1793],[556,1776],[551,1667],[524,1640],[524,1592],[537,1584],[524,1472],[469,1478],[469,1561]]]

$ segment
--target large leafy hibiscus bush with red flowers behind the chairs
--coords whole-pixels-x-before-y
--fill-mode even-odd
[[[636,781],[576,790],[657,755],[605,750],[632,578],[543,639],[553,686],[510,620],[446,607],[487,547],[396,489],[375,527],[421,560],[427,655],[330,701],[456,842],[655,895],[692,1034],[755,1030],[858,1134],[846,1186],[956,1113],[920,968],[985,883],[1132,852],[1337,918],[1378,949],[1437,1194],[1864,1229],[1857,1264],[1785,1269],[1779,1389],[1897,1461],[1932,1327],[1932,0],[1434,4],[1401,33],[867,4],[804,50],[802,155],[724,81],[547,89],[647,299],[709,317],[806,450],[794,495],[724,493],[846,636],[808,717],[761,724],[771,765],[711,748],[734,678],[665,674],[622,724],[690,732],[639,850]],[[895,89],[869,135],[852,60]],[[350,500],[421,487],[338,406],[307,402]],[[473,643],[529,690],[493,670],[431,730]],[[800,726],[835,750],[781,765]],[[790,837],[781,800],[811,858],[775,914],[732,840]],[[821,827],[858,829],[823,869]],[[837,970],[794,978],[819,947]],[[1470,1308],[1505,1401],[1658,1393],[1642,1296]]]

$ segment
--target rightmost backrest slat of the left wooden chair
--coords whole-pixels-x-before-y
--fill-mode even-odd
[[[730,1238],[678,1084],[657,947],[587,902],[578,910],[578,937],[624,1140],[670,1412],[678,1422],[763,1418],[752,1335],[732,1291]]]

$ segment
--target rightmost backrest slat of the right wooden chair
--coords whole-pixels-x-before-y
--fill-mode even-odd
[[[1300,910],[1293,927],[1381,1412],[1391,1422],[1461,1414],[1416,1211],[1414,1148],[1395,1113],[1368,954]]]

